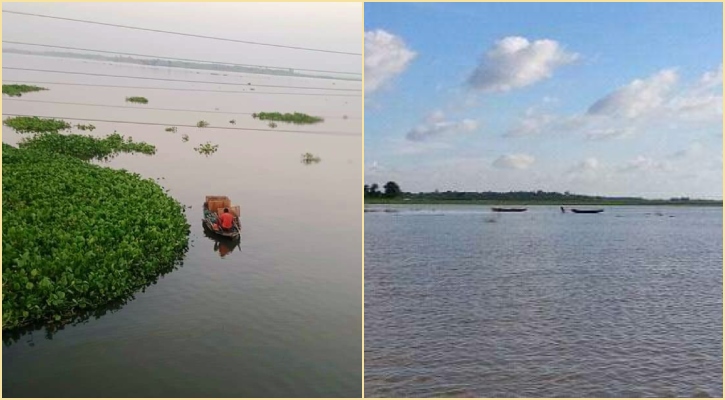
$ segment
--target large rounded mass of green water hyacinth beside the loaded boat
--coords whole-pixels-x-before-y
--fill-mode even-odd
[[[183,206],[151,179],[2,145],[2,328],[122,301],[188,248]]]

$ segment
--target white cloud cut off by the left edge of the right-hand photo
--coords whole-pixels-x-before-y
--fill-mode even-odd
[[[365,32],[365,93],[401,74],[415,56],[398,36],[382,29]]]

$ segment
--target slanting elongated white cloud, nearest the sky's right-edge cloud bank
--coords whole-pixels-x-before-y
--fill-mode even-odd
[[[647,79],[635,79],[589,107],[588,114],[636,118],[657,109],[677,83],[677,73],[662,70]]]

